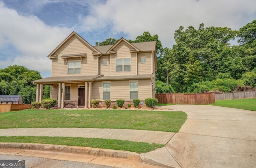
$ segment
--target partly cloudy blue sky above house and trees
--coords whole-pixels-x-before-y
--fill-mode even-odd
[[[0,0],[0,69],[22,65],[51,76],[47,56],[73,31],[95,46],[149,31],[163,47],[192,25],[239,30],[256,20],[256,0]]]

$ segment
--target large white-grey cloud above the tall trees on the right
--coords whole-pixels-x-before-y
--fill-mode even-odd
[[[205,23],[206,27],[239,29],[256,18],[255,6],[255,0],[108,0],[94,4],[90,15],[81,20],[87,30],[112,26],[113,34],[123,32],[130,39],[149,31],[170,48],[180,26],[197,29]]]

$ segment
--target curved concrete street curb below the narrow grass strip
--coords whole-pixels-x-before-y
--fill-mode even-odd
[[[26,150],[44,150],[51,152],[65,152],[76,154],[88,154],[100,157],[122,158],[142,162],[140,154],[124,150],[112,150],[90,147],[73,147],[66,145],[49,145],[35,143],[0,143],[0,148],[16,148]]]

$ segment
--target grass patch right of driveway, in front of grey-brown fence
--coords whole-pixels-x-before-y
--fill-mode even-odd
[[[214,104],[216,106],[230,107],[236,109],[247,109],[256,111],[256,98],[253,99],[232,99],[232,100],[216,100]]]

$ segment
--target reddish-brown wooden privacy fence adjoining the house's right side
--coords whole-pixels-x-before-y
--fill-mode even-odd
[[[167,93],[156,94],[158,103],[167,104],[212,104],[215,103],[214,92],[209,93]]]

